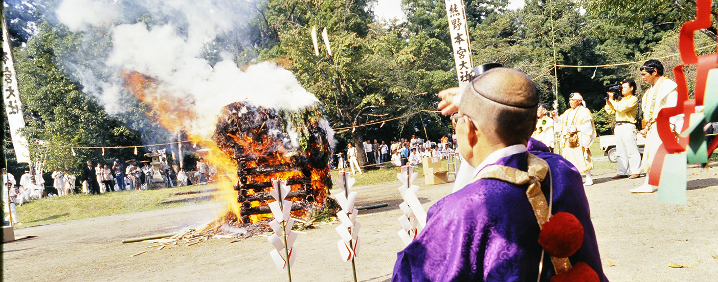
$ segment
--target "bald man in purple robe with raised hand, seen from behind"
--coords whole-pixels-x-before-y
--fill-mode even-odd
[[[456,105],[452,96],[458,94],[458,88],[442,91],[439,107],[458,111],[452,116],[458,150],[475,180],[429,209],[424,229],[398,253],[392,281],[549,281],[556,272],[538,243],[541,228],[528,187],[536,192],[531,197],[548,197],[546,213],[577,217],[584,236],[569,258],[606,281],[581,176],[530,138],[538,105],[533,82],[517,70],[494,67],[474,77]]]

